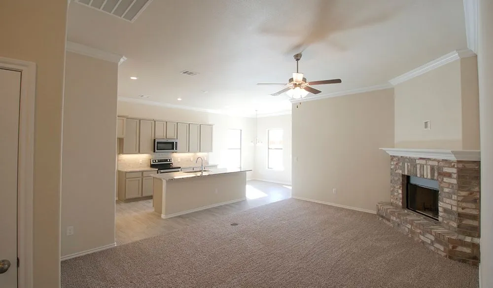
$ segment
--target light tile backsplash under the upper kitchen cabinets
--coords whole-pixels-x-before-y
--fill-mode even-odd
[[[152,158],[173,158],[173,164],[180,167],[196,166],[197,157],[204,158],[204,165],[209,164],[209,153],[152,153],[152,154],[118,154],[118,169],[136,169],[149,167]]]

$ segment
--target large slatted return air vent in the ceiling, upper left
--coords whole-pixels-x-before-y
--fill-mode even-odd
[[[75,2],[134,22],[152,0],[75,0]]]

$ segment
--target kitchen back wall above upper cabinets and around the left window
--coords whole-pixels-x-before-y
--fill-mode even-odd
[[[245,169],[253,169],[253,145],[255,119],[247,117],[235,117],[202,111],[185,110],[153,106],[141,103],[129,103],[118,101],[118,115],[139,118],[162,119],[171,121],[183,121],[193,123],[214,124],[213,128],[213,152],[209,153],[207,161],[226,167],[227,161],[227,131],[228,129],[242,130],[242,164]],[[175,163],[175,165],[179,163]],[[252,173],[247,173],[247,178],[252,178]]]

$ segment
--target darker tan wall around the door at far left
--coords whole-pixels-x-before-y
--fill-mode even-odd
[[[35,62],[34,283],[60,286],[60,177],[67,0],[1,1],[0,56]]]

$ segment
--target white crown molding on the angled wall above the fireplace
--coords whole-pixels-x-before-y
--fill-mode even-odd
[[[405,82],[407,80],[410,80],[414,77],[417,77],[419,75],[422,75],[426,72],[429,72],[431,70],[437,69],[438,67],[444,66],[448,63],[454,62],[460,58],[467,58],[471,56],[475,56],[476,53],[474,53],[470,49],[462,49],[462,50],[455,50],[452,51],[446,55],[443,55],[440,58],[437,58],[433,61],[430,61],[414,70],[411,70],[409,72],[406,72],[400,76],[397,76],[393,79],[390,79],[388,82],[392,85],[397,85],[399,83]]]

